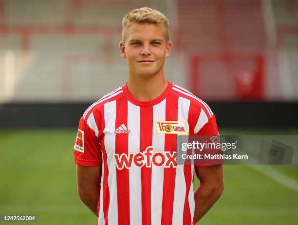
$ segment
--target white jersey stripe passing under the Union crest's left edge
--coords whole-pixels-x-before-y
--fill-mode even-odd
[[[165,150],[165,134],[157,133],[154,120],[166,120],[166,99],[153,106],[152,146]],[[163,206],[164,167],[152,165],[151,169],[151,224],[160,225]]]

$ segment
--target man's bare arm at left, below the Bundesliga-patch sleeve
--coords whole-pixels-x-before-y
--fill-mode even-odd
[[[101,167],[84,167],[76,164],[77,193],[81,201],[98,217]]]

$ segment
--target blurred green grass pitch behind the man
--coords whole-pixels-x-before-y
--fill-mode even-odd
[[[0,131],[0,215],[34,214],[40,225],[96,224],[76,193],[75,135],[75,129]],[[298,224],[298,166],[224,165],[224,183],[222,197],[198,224]]]

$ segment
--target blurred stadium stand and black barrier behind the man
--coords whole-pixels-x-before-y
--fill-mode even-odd
[[[146,5],[170,20],[166,78],[219,126],[298,127],[298,0],[0,0],[0,127],[77,126],[126,82],[121,19]]]

